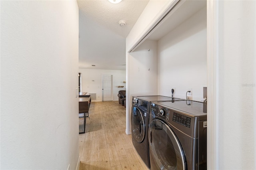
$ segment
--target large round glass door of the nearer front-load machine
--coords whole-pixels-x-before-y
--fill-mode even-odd
[[[184,152],[173,130],[155,119],[150,123],[148,132],[151,169],[186,170]]]

